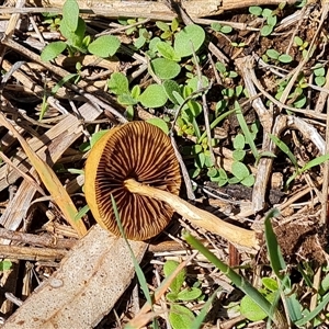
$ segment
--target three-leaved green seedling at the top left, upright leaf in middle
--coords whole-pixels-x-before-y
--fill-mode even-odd
[[[90,53],[106,58],[113,56],[121,45],[120,39],[113,35],[103,35],[91,42],[91,36],[86,35],[86,23],[79,16],[79,5],[76,0],[65,2],[59,31],[66,42],[48,44],[41,54],[42,60],[53,60],[64,50],[68,50],[69,56]]]

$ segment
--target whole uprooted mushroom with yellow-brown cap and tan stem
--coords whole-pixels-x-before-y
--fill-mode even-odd
[[[97,222],[120,236],[113,195],[126,237],[146,240],[161,232],[173,212],[228,241],[258,248],[256,232],[200,209],[178,196],[181,177],[170,138],[146,122],[106,133],[86,164],[86,198]]]

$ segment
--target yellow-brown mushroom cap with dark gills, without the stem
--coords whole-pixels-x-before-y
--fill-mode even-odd
[[[164,229],[173,209],[164,202],[131,193],[124,186],[127,179],[179,194],[180,167],[170,138],[157,126],[131,122],[111,129],[92,147],[86,163],[86,198],[95,220],[121,236],[112,194],[126,237],[146,240]]]

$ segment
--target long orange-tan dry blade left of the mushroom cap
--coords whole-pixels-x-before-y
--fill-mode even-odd
[[[79,237],[82,237],[87,234],[87,229],[81,220],[75,220],[75,216],[78,213],[76,206],[73,205],[70,196],[61,185],[59,179],[53,171],[53,169],[44,162],[35,152],[31,149],[26,140],[16,132],[11,123],[9,123],[5,116],[0,113],[0,124],[8,128],[14,137],[18,138],[22,148],[26,152],[32,166],[37,171],[41,180],[45,184],[46,189],[49,191],[54,202],[58,205],[63,212],[65,218],[78,232]]]

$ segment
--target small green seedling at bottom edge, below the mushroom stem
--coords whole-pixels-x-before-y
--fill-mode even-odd
[[[164,263],[163,272],[168,277],[179,265],[179,262],[168,260]],[[186,270],[182,270],[170,284],[170,292],[166,294],[169,303],[169,321],[173,329],[189,329],[195,319],[194,314],[182,302],[193,302],[202,296],[202,291],[196,287],[184,287]]]

